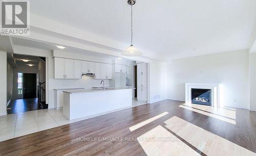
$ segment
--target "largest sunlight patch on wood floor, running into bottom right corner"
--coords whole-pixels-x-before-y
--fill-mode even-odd
[[[166,124],[165,127],[208,156],[256,155],[256,153],[246,148],[234,144],[179,117],[174,116],[164,123]]]

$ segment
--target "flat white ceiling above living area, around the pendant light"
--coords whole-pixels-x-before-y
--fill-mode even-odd
[[[33,14],[130,44],[126,0],[30,4]],[[255,19],[255,0],[137,0],[134,46],[167,59],[248,49]]]

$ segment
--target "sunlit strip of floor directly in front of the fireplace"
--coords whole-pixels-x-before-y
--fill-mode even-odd
[[[236,111],[234,110],[229,110],[226,108],[215,108],[211,106],[198,105],[198,104],[192,104],[192,105],[182,104],[182,105],[179,105],[179,107],[192,110],[193,112],[197,112],[197,113],[236,125]]]

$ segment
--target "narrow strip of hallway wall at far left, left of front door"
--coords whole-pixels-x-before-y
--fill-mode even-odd
[[[12,99],[13,90],[13,69],[12,66],[7,63],[7,102]]]

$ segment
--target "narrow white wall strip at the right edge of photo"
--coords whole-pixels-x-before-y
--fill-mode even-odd
[[[250,110],[256,111],[256,53],[249,54]]]

